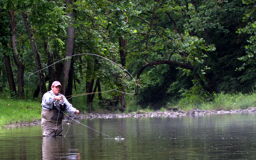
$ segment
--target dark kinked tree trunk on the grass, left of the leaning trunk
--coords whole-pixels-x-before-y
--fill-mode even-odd
[[[24,70],[25,65],[21,61],[18,50],[17,50],[17,43],[16,43],[16,33],[15,33],[15,19],[14,19],[14,11],[9,11],[9,16],[11,19],[10,31],[11,31],[11,47],[13,52],[13,59],[18,69],[18,97],[24,98]]]

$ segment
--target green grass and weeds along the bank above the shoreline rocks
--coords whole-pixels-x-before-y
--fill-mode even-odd
[[[74,102],[75,103],[75,102]],[[130,102],[131,103],[131,102]],[[154,110],[148,105],[146,108],[141,108],[137,105],[128,105],[125,113],[149,113]],[[187,96],[177,102],[177,104],[169,104],[162,106],[159,111],[165,112],[168,107],[178,107],[184,112],[189,112],[192,109],[201,110],[239,110],[250,109],[256,106],[256,93],[250,94],[228,94],[219,93],[212,94],[205,98],[197,96]],[[76,108],[87,113],[87,108],[82,104],[76,105]],[[102,109],[94,108],[95,112],[104,112]],[[112,110],[114,113],[121,113],[117,110]],[[41,119],[41,104],[37,101],[15,100],[15,99],[1,99],[0,103],[0,127],[4,127],[8,124],[32,122]]]

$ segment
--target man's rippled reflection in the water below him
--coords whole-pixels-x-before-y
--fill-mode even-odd
[[[43,160],[80,159],[78,149],[72,149],[63,143],[64,137],[43,137]]]

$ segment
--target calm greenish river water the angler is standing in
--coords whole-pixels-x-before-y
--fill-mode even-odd
[[[256,114],[84,119],[64,137],[0,129],[0,159],[255,159]]]

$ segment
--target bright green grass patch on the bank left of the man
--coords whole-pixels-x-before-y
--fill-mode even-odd
[[[11,123],[41,119],[41,104],[23,100],[0,100],[0,128]]]

